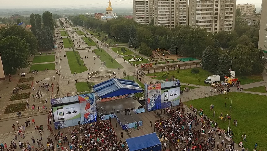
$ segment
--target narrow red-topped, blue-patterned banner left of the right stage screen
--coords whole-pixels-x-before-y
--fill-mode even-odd
[[[161,84],[147,85],[147,110],[161,109]]]

